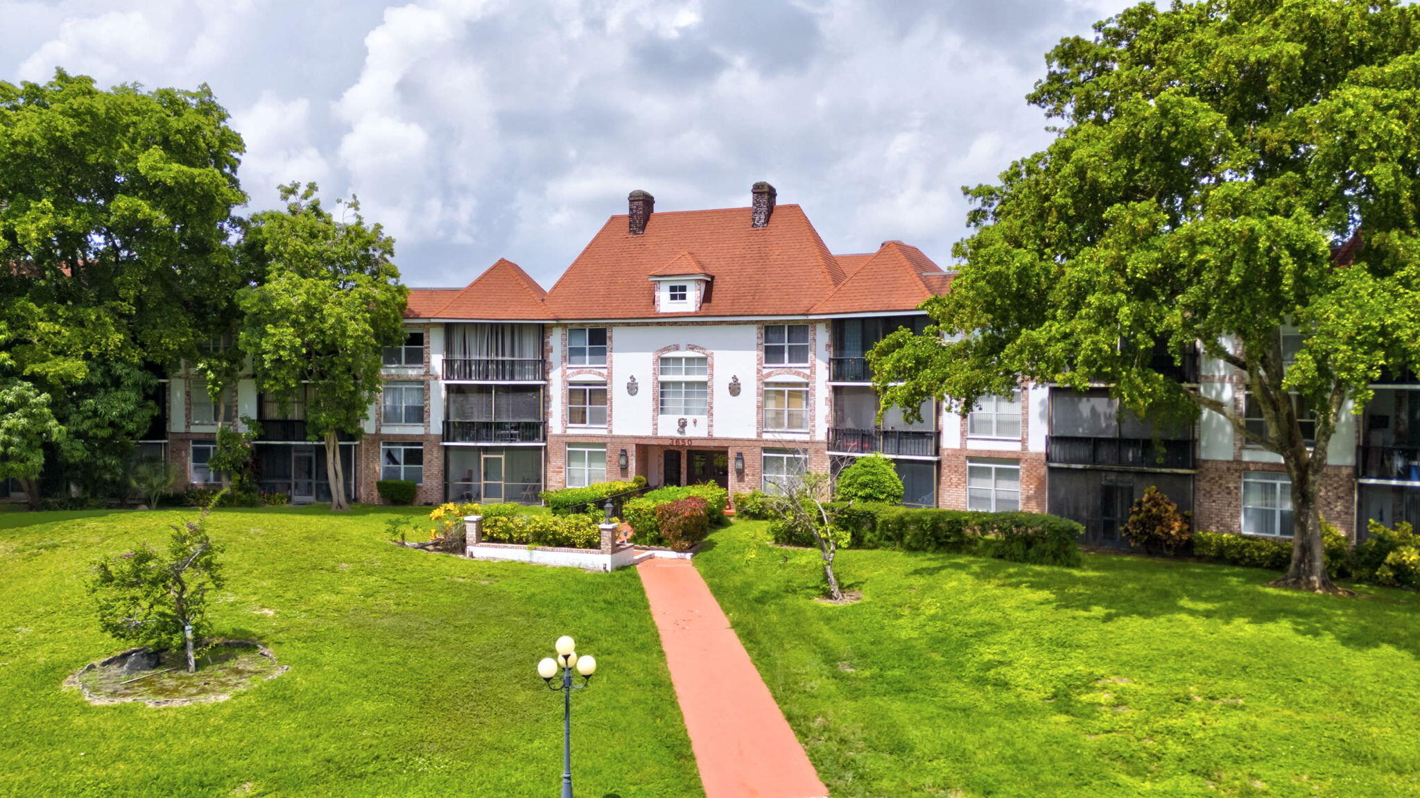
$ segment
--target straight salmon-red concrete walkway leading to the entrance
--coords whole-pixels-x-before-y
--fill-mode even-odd
[[[730,621],[689,559],[636,567],[706,798],[819,798],[818,780]]]

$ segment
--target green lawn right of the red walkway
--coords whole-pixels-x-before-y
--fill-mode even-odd
[[[763,523],[696,558],[849,795],[1420,795],[1420,595],[1120,555],[1079,569],[816,551]]]

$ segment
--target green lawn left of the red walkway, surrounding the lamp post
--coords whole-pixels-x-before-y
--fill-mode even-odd
[[[578,795],[699,795],[645,594],[630,569],[488,564],[390,545],[427,508],[220,510],[229,638],[291,670],[229,701],[95,707],[60,683],[122,650],[95,629],[88,564],[190,511],[0,514],[0,794],[555,795],[558,635],[601,667],[574,696]]]

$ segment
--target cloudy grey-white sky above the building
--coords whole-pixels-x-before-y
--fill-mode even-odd
[[[746,206],[770,180],[836,253],[941,264],[960,187],[1039,149],[1042,54],[1122,0],[0,0],[0,80],[207,82],[253,206],[361,197],[412,285],[498,257],[544,285],[626,193]]]

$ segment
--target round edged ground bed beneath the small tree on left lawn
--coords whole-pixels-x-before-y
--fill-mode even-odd
[[[257,640],[219,640],[197,657],[196,673],[187,673],[182,650],[155,653],[139,647],[85,665],[64,686],[78,689],[97,706],[143,701],[151,707],[176,707],[224,701],[288,669]]]

